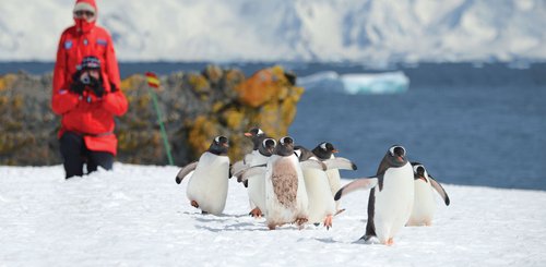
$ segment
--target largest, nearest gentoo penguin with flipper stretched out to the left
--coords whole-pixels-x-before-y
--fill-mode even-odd
[[[394,145],[381,160],[376,177],[348,183],[337,191],[334,199],[340,199],[342,195],[357,189],[371,189],[366,234],[361,239],[366,243],[379,241],[381,244],[392,245],[394,235],[404,227],[412,214],[413,177],[406,150],[402,146]]]

